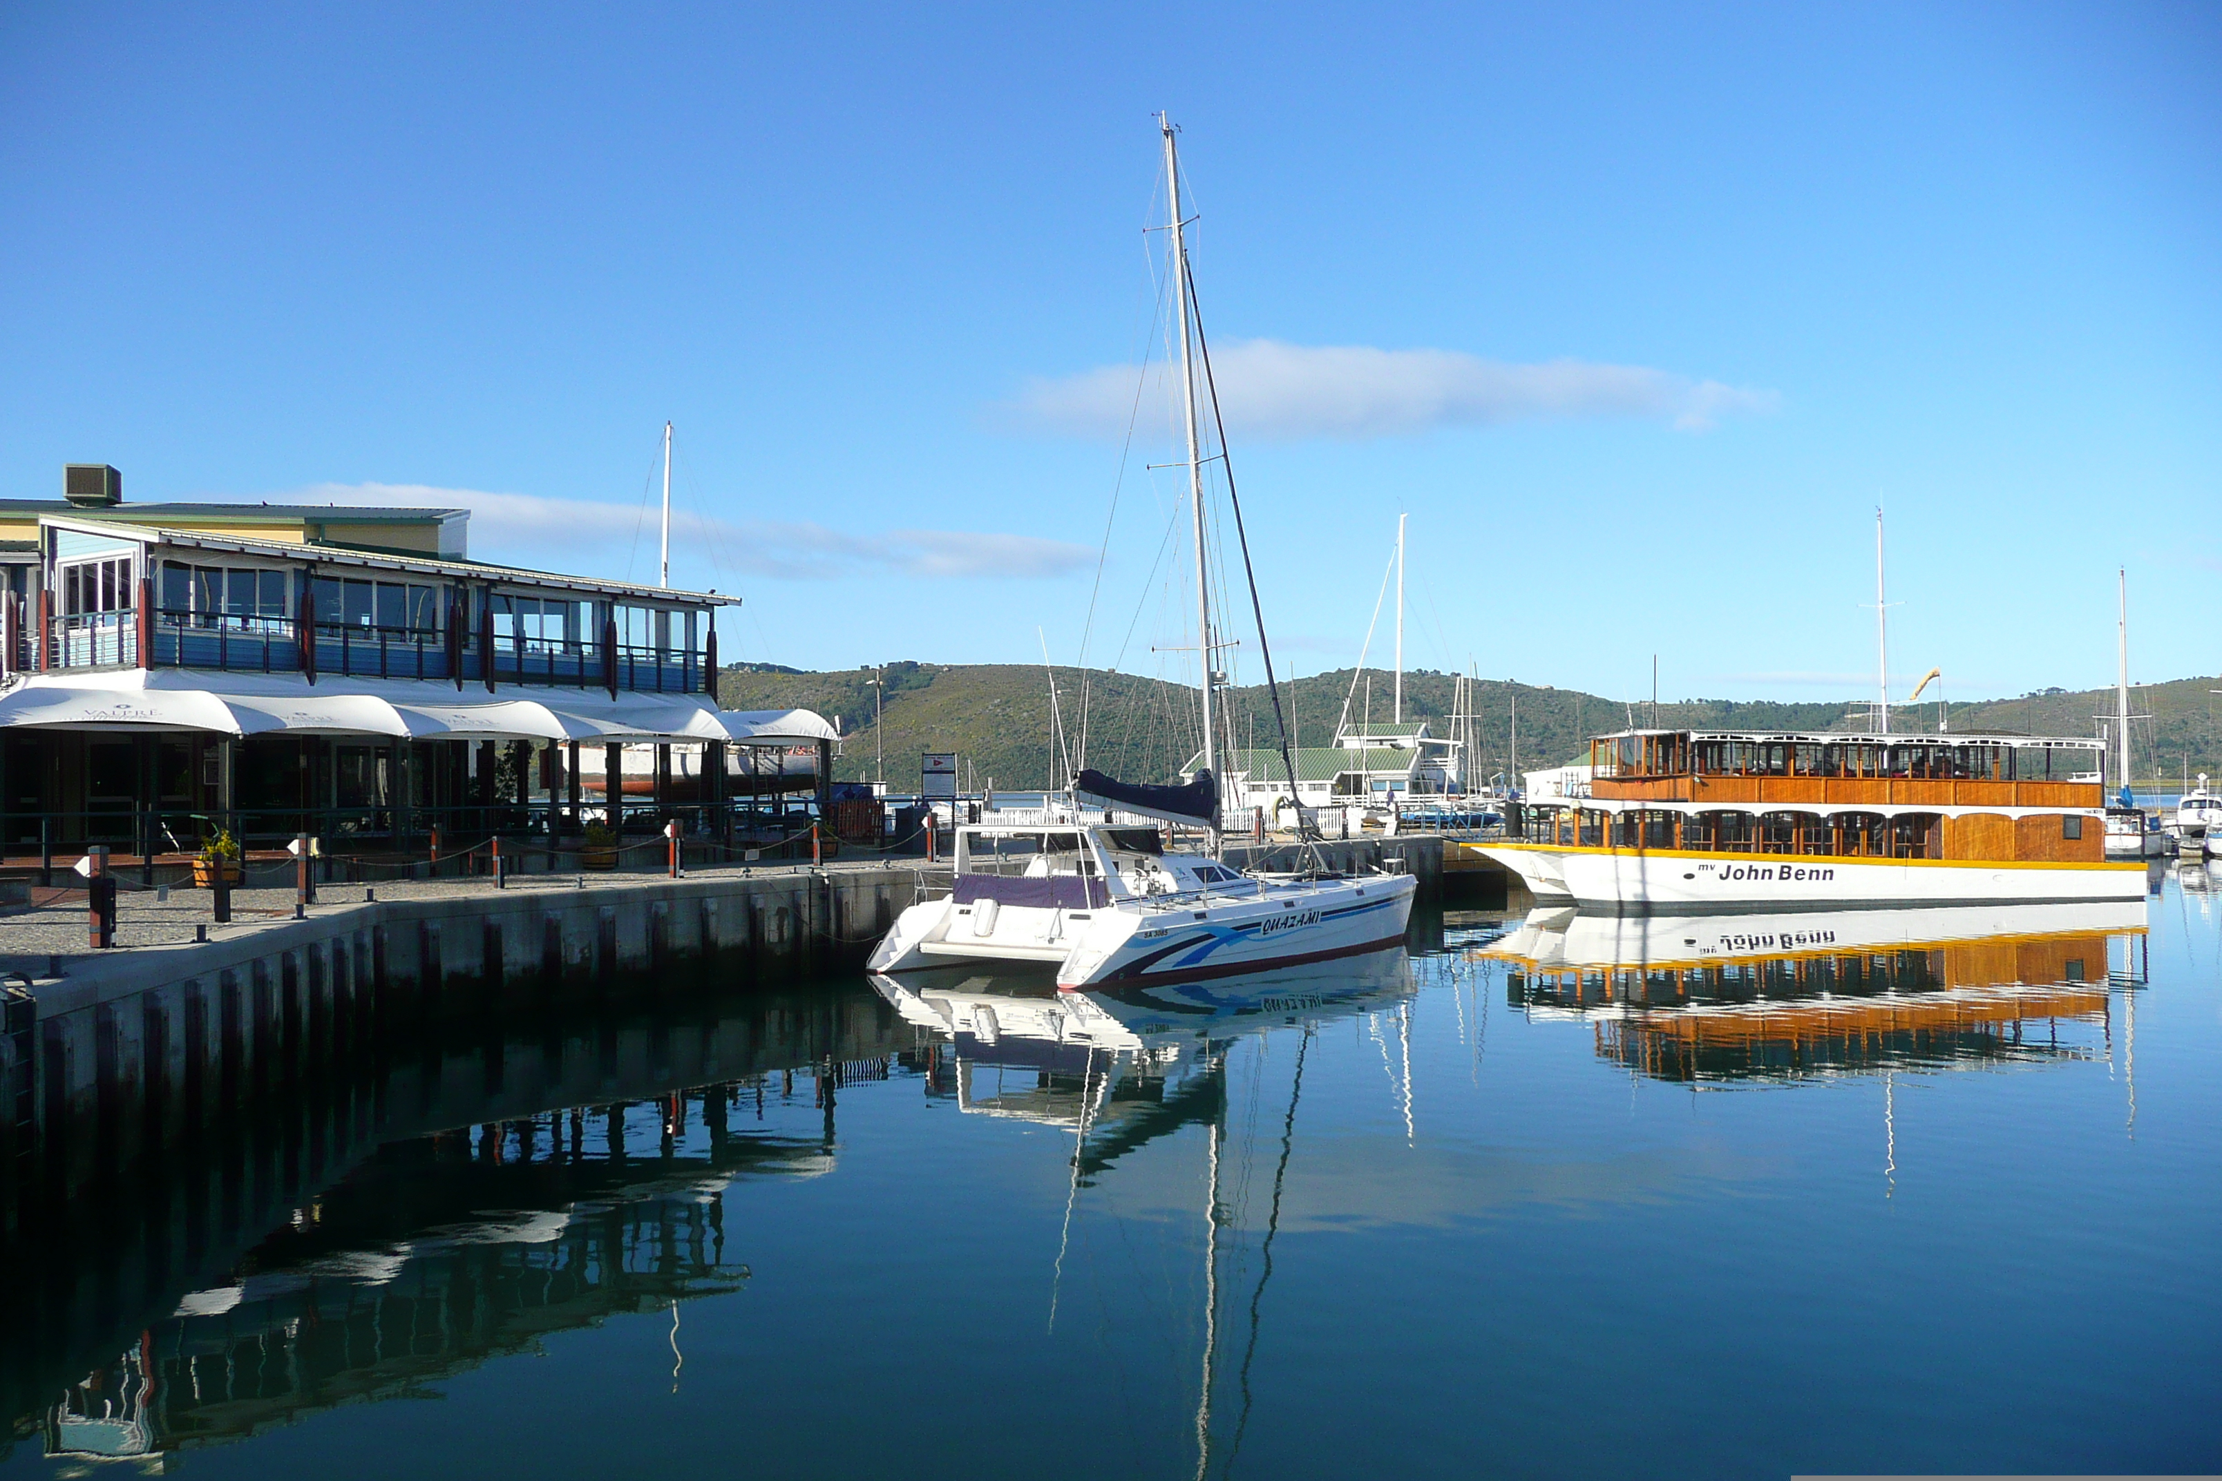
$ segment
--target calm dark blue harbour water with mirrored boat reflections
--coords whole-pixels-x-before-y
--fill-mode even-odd
[[[2215,1470],[2198,884],[689,1010],[116,1312],[0,1474]]]

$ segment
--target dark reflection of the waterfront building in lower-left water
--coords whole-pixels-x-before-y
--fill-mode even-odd
[[[678,1303],[749,1279],[724,1230],[733,1183],[831,1170],[840,1088],[924,1070],[913,1041],[871,995],[604,1028],[584,1037],[578,1079],[633,1099],[538,1112],[518,1112],[531,1088],[516,1075],[487,1088],[451,1072],[484,1050],[404,1064],[416,1079],[387,1072],[384,1101],[440,1117],[476,1099],[500,1119],[411,1135],[389,1117],[396,1139],[367,1144],[338,1181],[271,1208],[273,1232],[216,1257],[224,1277],[171,1288],[138,1319],[109,1314],[111,1272],[158,1263],[144,1246],[180,1237],[173,1212],[160,1212],[169,1203],[118,1208],[113,1223],[144,1230],[140,1246],[24,1255],[18,1268],[44,1288],[87,1294],[33,1308],[29,1330],[7,1326],[9,1388],[56,1394],[29,1412],[18,1399],[16,1441],[156,1465],[338,1403],[422,1394],[549,1332],[667,1310],[678,1381]],[[516,1044],[504,1052],[511,1070],[524,1061]],[[660,1075],[715,1072],[720,1057],[742,1077],[640,1095]],[[553,1055],[547,1064],[547,1090],[573,1079],[553,1070]],[[87,1372],[69,1352],[100,1350],[104,1330],[113,1357]]]

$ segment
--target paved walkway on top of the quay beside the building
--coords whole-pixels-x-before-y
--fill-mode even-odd
[[[784,877],[809,873],[813,866],[804,859],[800,864],[727,864],[715,868],[689,868],[689,879],[713,879],[713,877]],[[831,873],[858,873],[871,868],[929,868],[924,857],[889,857],[889,859],[829,859],[824,864]],[[947,868],[947,864],[935,866]],[[253,870],[258,879],[278,875],[280,870]],[[291,870],[284,870],[291,877]],[[549,893],[549,890],[578,890],[578,888],[655,888],[669,884],[669,875],[655,870],[627,870],[627,873],[584,873],[584,875],[511,875],[504,886],[507,893]],[[378,899],[453,899],[467,895],[491,895],[493,881],[487,877],[451,877],[451,879],[384,879],[378,884],[320,884],[316,886],[316,904],[309,913],[358,906],[369,897]],[[204,926],[211,937],[222,937],[227,926],[216,924],[216,904],[209,890],[196,888],[171,888],[167,899],[162,890],[140,890],[133,881],[124,881],[116,899],[116,948],[131,946],[171,946],[193,939],[193,928]],[[31,977],[49,975],[51,957],[76,957],[93,955],[89,941],[89,921],[84,908],[84,888],[42,888],[31,886],[31,904],[13,906],[7,915],[0,915],[0,973],[27,973]],[[249,926],[256,921],[289,919],[293,915],[293,886],[291,881],[282,888],[233,888],[231,890],[231,919],[233,928]]]

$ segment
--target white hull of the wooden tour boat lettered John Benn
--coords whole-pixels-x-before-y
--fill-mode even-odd
[[[2142,899],[2142,864],[1831,859],[1484,844],[1542,904],[1673,910],[1804,910],[1986,901]],[[1542,886],[1542,888],[1538,888]]]

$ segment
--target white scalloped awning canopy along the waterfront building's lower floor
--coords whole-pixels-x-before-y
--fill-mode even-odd
[[[98,679],[98,682],[87,682]],[[787,744],[831,739],[809,711],[718,711],[704,695],[598,688],[453,688],[351,679],[347,691],[296,675],[189,668],[29,675],[0,693],[0,728],[202,731],[211,735],[364,735],[387,739],[533,739],[607,744]]]

